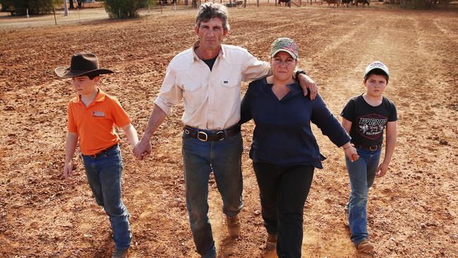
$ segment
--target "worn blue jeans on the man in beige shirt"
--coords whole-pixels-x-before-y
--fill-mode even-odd
[[[215,176],[223,199],[223,213],[235,216],[242,209],[242,135],[221,141],[202,142],[183,134],[182,155],[186,184],[186,206],[192,238],[202,257],[215,257],[216,248],[207,213],[209,176]]]

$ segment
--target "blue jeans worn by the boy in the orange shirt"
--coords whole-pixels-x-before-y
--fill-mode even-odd
[[[82,155],[82,159],[95,201],[104,207],[110,218],[116,249],[126,250],[130,247],[132,235],[129,226],[130,214],[121,199],[123,158],[120,149],[115,147],[97,158]]]

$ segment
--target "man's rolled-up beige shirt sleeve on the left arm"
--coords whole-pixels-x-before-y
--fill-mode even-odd
[[[171,114],[172,107],[180,103],[182,99],[182,89],[178,85],[177,72],[170,64],[166,70],[166,77],[163,79],[161,92],[154,100],[154,104],[168,115]]]

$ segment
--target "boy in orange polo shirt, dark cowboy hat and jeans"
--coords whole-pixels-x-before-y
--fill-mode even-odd
[[[113,73],[112,70],[99,68],[97,56],[92,53],[74,54],[69,68],[58,67],[55,72],[60,78],[72,78],[78,94],[68,104],[63,176],[69,179],[72,175],[71,161],[78,142],[89,186],[97,204],[104,207],[113,228],[116,250],[112,257],[127,257],[132,235],[130,215],[121,199],[123,159],[114,125],[124,130],[132,147],[138,142],[137,131],[118,100],[97,87],[99,75]]]

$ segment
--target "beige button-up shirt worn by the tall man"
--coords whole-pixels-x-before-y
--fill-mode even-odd
[[[206,130],[229,128],[240,121],[240,83],[267,75],[270,65],[247,49],[222,44],[210,70],[195,54],[198,46],[196,42],[172,59],[154,104],[169,115],[183,99],[185,125]]]

